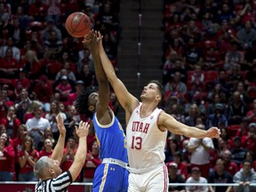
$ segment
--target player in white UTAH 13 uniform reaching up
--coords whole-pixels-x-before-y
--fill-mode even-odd
[[[127,91],[117,78],[115,70],[108,60],[102,46],[100,32],[100,60],[114,88],[117,99],[125,110],[126,138],[129,158],[128,191],[167,191],[168,175],[164,165],[164,146],[167,130],[175,134],[193,138],[219,138],[220,130],[212,127],[207,131],[187,126],[176,121],[172,116],[157,108],[164,99],[164,88],[158,81],[147,84],[137,100]]]

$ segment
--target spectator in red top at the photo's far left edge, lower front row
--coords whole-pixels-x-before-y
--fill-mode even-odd
[[[14,173],[14,150],[4,132],[0,136],[0,181],[12,181]]]

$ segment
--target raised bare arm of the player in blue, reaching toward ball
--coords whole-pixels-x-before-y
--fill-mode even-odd
[[[111,122],[109,115],[101,120],[101,117],[108,113],[109,84],[108,77],[106,76],[100,61],[100,41],[100,32],[94,30],[91,30],[87,36],[84,36],[84,43],[92,52],[95,74],[99,84],[99,100],[96,106],[97,118],[99,119],[100,124],[109,124]]]

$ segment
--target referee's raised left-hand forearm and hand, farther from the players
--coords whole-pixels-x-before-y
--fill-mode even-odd
[[[59,140],[53,149],[52,152],[52,159],[58,160],[59,164],[61,162],[63,151],[64,151],[64,144],[65,144],[65,137],[66,137],[66,129],[63,123],[63,117],[58,114],[57,116],[57,125],[60,132]]]

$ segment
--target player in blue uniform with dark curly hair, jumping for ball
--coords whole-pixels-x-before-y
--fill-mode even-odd
[[[100,147],[100,164],[92,181],[93,192],[124,192],[128,189],[128,163],[126,138],[123,128],[113,111],[108,107],[108,78],[101,66],[100,34],[91,30],[84,43],[92,52],[99,93],[87,87],[76,99],[76,110],[81,115],[93,115],[93,124]]]

